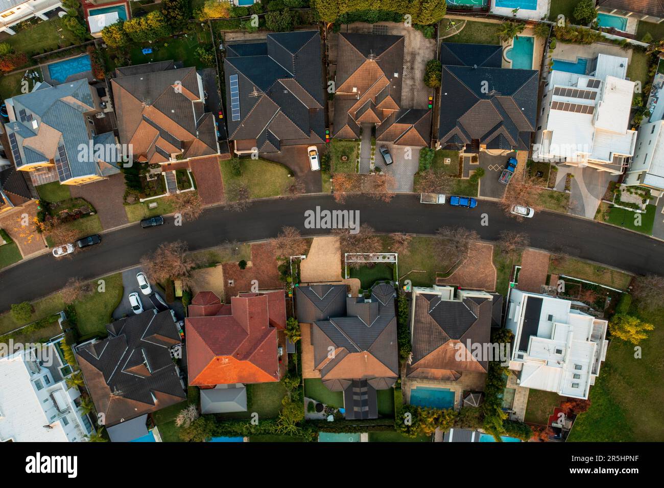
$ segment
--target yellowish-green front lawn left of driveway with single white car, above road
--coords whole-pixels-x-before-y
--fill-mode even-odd
[[[233,174],[231,164],[230,160],[219,163],[224,189],[226,189],[226,199],[229,201],[237,200],[235,195],[229,195],[229,188],[235,183],[244,183],[249,189],[250,198],[260,199],[282,195],[291,182],[288,177],[290,170],[279,163],[265,159],[240,159],[240,167],[242,167],[240,177]]]

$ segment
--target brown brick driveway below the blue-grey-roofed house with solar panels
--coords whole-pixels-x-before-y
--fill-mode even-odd
[[[128,222],[122,198],[124,197],[124,175],[112,175],[108,179],[71,187],[72,197],[86,199],[97,210],[104,230]]]

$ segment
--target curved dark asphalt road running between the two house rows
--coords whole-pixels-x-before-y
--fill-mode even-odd
[[[201,218],[183,222],[182,226],[175,226],[172,218],[161,227],[147,230],[135,224],[103,234],[101,244],[77,251],[72,259],[56,260],[46,254],[27,260],[0,272],[0,311],[9,309],[11,303],[57,291],[72,276],[91,279],[133,266],[162,242],[186,240],[190,250],[200,250],[226,240],[270,238],[282,226],[295,226],[303,235],[326,234],[329,230],[304,228],[305,210],[316,206],[359,210],[361,222],[378,232],[434,234],[440,226],[464,226],[477,230],[485,240],[497,240],[501,230],[518,230],[529,234],[535,248],[564,252],[636,274],[664,275],[664,242],[592,220],[539,212],[534,218],[517,222],[489,201],[480,201],[471,210],[421,204],[418,195],[397,195],[388,204],[369,198],[348,199],[344,205],[336,204],[329,195],[314,195],[256,201],[246,212],[231,212],[223,206],[207,208]],[[488,215],[487,226],[481,225],[482,214]]]

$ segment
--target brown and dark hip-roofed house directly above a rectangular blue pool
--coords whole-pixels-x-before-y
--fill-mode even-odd
[[[499,293],[452,286],[413,287],[410,334],[412,360],[406,378],[456,382],[464,375],[487,372],[489,361],[473,347],[491,341],[499,327],[503,297]],[[458,401],[458,399],[457,399]]]

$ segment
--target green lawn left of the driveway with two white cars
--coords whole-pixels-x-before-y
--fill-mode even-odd
[[[101,279],[104,280],[105,291],[95,291],[90,297],[74,303],[81,337],[95,333],[106,334],[106,324],[113,321],[113,311],[122,301],[122,274],[116,273]],[[98,282],[95,283],[98,287]]]

